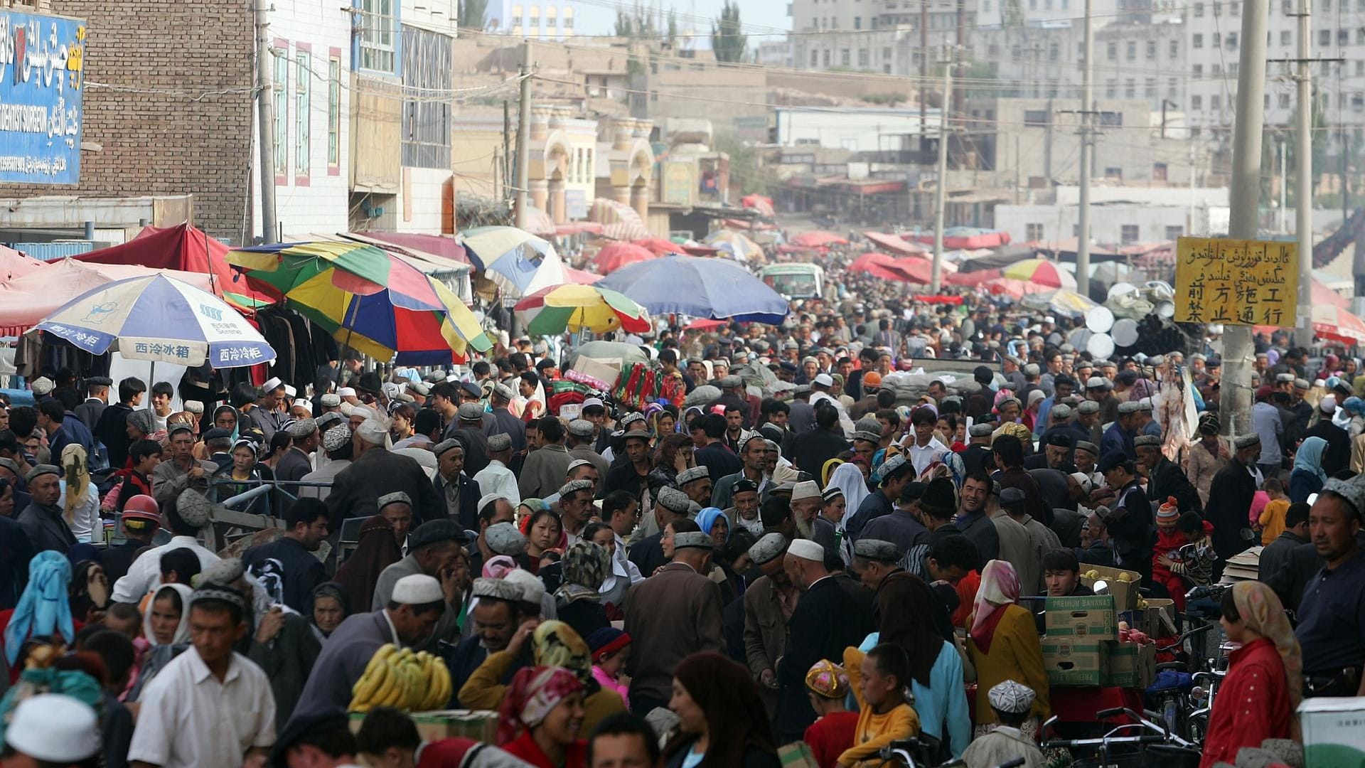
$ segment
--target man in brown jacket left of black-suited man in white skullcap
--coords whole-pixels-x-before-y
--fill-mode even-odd
[[[749,547],[763,575],[744,592],[744,656],[759,682],[768,720],[777,717],[777,660],[786,652],[786,622],[801,592],[782,568],[786,537],[768,533]]]

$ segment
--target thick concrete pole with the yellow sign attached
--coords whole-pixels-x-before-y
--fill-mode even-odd
[[[1242,4],[1242,51],[1237,70],[1237,122],[1233,128],[1231,216],[1227,236],[1256,239],[1261,194],[1261,131],[1265,123],[1265,26],[1268,3]],[[1302,254],[1301,254],[1302,256]],[[1224,435],[1252,430],[1252,327],[1227,325],[1223,333]]]

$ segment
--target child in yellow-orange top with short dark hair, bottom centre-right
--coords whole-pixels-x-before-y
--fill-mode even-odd
[[[880,765],[878,752],[883,746],[920,732],[919,715],[905,702],[910,660],[900,645],[883,642],[865,655],[856,648],[845,648],[844,670],[857,700],[859,717],[853,746],[844,750],[838,765]]]

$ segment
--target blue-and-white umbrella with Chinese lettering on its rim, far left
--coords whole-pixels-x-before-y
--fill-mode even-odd
[[[164,275],[115,280],[71,299],[46,320],[46,331],[76,347],[128,359],[242,368],[270,362],[274,350],[218,297]]]

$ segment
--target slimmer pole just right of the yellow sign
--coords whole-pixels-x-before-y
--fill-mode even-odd
[[[1294,235],[1298,239],[1298,324],[1294,343],[1313,343],[1313,0],[1298,0],[1298,109],[1294,113]],[[1345,148],[1343,148],[1345,150]],[[1345,176],[1343,176],[1345,180]],[[1343,187],[1345,189],[1345,187]]]

